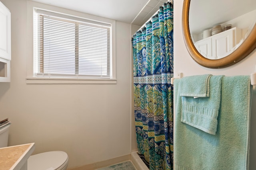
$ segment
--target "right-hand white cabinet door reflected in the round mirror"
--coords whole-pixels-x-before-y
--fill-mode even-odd
[[[234,30],[225,31],[212,37],[212,56],[220,59],[234,47]]]

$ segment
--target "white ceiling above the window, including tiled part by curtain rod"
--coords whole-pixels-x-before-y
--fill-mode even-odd
[[[32,0],[142,26],[167,0]]]

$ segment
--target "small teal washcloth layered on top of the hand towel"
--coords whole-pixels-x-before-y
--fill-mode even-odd
[[[180,96],[209,97],[211,74],[183,77],[180,83]]]

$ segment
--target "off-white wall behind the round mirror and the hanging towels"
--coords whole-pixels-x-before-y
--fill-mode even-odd
[[[239,63],[221,69],[205,68],[197,64],[190,57],[186,50],[182,35],[182,5],[183,1],[174,0],[174,76],[182,72],[183,76],[192,76],[198,74],[213,75],[250,75],[254,72],[256,65],[256,49]],[[256,169],[256,92],[253,92],[252,113],[251,113],[251,129],[250,129],[250,170]]]

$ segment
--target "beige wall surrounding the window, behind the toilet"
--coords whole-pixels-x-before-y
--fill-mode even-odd
[[[116,22],[117,84],[26,84],[27,2],[1,2],[12,17],[11,82],[0,82],[0,119],[12,122],[8,145],[63,150],[69,168],[130,154],[131,25]]]

